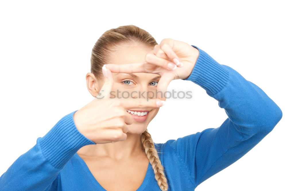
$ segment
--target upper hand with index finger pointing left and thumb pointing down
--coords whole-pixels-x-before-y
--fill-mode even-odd
[[[146,54],[145,62],[121,65],[107,64],[106,67],[115,73],[159,74],[161,78],[158,81],[157,91],[159,92],[158,95],[161,95],[160,92],[164,93],[167,90],[170,81],[189,77],[198,56],[197,48],[182,41],[165,38]],[[166,100],[166,98],[158,98]]]

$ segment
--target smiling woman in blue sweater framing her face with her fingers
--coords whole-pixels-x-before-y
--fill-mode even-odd
[[[147,126],[174,79],[200,85],[228,118],[218,128],[154,143]],[[1,176],[1,190],[194,190],[245,155],[282,118],[262,89],[234,69],[197,46],[173,39],[158,45],[133,25],[98,39],[86,81],[95,99],[39,137]],[[117,90],[131,96],[122,99]],[[139,98],[139,91],[158,97]]]

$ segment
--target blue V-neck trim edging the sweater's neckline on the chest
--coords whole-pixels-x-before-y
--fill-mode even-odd
[[[89,175],[90,179],[92,180],[92,182],[94,182],[94,184],[96,185],[96,187],[101,190],[101,191],[107,191],[106,189],[104,189],[96,180],[96,178],[94,177],[94,175],[92,174],[92,172],[90,171],[88,165],[86,164],[86,162],[78,155],[78,153],[75,154],[76,158],[80,161],[80,163],[83,165],[84,169],[86,170],[87,174]],[[139,186],[139,188],[136,191],[143,191],[144,188],[146,187],[146,185],[149,182],[150,176],[152,175],[152,165],[150,163],[148,163],[148,169],[146,171],[146,176],[144,178],[144,181],[141,183],[141,186]]]

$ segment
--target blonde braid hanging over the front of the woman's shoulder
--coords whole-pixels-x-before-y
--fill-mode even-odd
[[[154,141],[152,140],[152,136],[147,129],[141,134],[141,143],[148,159],[150,160],[152,168],[154,169],[154,174],[156,180],[158,181],[158,186],[162,191],[167,191],[168,185],[164,175],[164,168],[161,165],[160,159],[158,157],[158,152],[154,147]]]

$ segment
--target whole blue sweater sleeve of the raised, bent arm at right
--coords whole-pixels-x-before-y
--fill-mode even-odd
[[[257,145],[281,120],[282,111],[257,85],[191,46],[199,50],[199,57],[183,80],[205,89],[228,116],[217,128],[168,141],[198,186]]]

